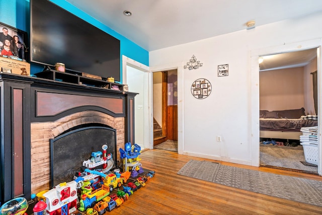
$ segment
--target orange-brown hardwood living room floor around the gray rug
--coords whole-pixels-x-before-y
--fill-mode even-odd
[[[208,160],[162,150],[141,153],[143,168],[155,176],[106,214],[322,214],[322,207],[276,198],[178,175],[189,160]],[[253,170],[320,180],[322,177],[265,167],[219,162]],[[287,182],[286,182],[287,183]]]

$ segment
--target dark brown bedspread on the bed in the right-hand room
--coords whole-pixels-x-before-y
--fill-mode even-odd
[[[260,118],[260,130],[300,131],[312,126],[317,126],[317,120]]]

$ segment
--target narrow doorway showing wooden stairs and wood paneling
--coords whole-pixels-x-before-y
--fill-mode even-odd
[[[153,73],[153,148],[178,152],[177,69]]]

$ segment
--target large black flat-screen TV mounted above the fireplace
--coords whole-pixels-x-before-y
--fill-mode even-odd
[[[120,81],[120,41],[47,0],[30,1],[31,62]]]

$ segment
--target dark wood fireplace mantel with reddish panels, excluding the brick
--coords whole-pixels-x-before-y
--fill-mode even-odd
[[[124,141],[135,142],[136,95],[99,87],[1,74],[0,202],[18,196],[30,200],[32,123],[53,122],[79,112],[96,111],[111,117],[123,117]]]

